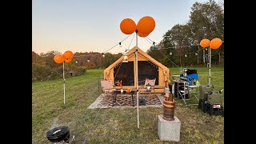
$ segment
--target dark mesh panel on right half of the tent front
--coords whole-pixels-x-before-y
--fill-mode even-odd
[[[158,85],[158,66],[150,61],[138,61],[138,85],[144,85],[146,78],[156,78],[155,85]]]

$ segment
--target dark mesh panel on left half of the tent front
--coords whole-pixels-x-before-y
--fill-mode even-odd
[[[114,68],[114,82],[122,80],[122,86],[134,86],[134,62],[122,62]]]

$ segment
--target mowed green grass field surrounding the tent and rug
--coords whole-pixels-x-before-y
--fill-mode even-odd
[[[201,84],[207,83],[208,68],[198,70]],[[170,68],[171,74],[181,74],[180,68]],[[140,129],[137,129],[137,109],[87,109],[101,94],[99,78],[103,70],[87,70],[86,74],[66,78],[66,104],[63,79],[32,82],[32,142],[52,143],[46,132],[55,126],[68,126],[75,143],[224,143],[224,118],[203,113],[197,106],[184,106],[177,101],[174,115],[181,121],[180,142],[162,142],[158,138],[158,115],[162,108],[139,109]],[[224,88],[224,68],[211,68],[214,90]]]

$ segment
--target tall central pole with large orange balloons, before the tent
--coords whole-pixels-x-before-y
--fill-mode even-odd
[[[138,115],[138,36],[146,37],[148,36],[155,27],[154,18],[150,16],[145,16],[138,21],[138,24],[130,19],[125,18],[120,23],[120,30],[123,34],[133,34],[136,33],[136,51],[135,51],[135,71],[136,71],[136,94],[137,94],[137,122],[139,129],[139,115]]]

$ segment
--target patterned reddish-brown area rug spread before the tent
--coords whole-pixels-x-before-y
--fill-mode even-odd
[[[137,107],[137,95],[134,94],[133,98],[131,94],[117,94],[116,102],[113,102],[113,96],[111,94],[102,94],[88,107],[88,109],[134,108]],[[139,107],[162,107],[163,96],[161,94],[139,94],[139,98],[139,104],[141,104]]]

